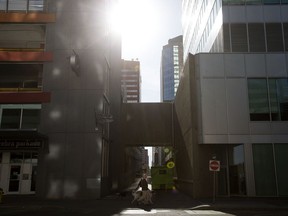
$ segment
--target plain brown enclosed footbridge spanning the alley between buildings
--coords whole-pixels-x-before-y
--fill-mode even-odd
[[[124,146],[174,146],[173,103],[125,103],[121,110]]]

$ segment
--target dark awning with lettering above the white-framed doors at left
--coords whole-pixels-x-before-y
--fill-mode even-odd
[[[40,149],[48,143],[48,136],[38,131],[0,130],[0,150]]]

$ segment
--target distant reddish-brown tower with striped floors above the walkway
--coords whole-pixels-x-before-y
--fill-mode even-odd
[[[140,102],[140,62],[138,60],[122,60],[121,88],[123,102]]]

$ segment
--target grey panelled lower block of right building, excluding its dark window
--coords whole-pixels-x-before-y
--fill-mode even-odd
[[[279,67],[276,66],[278,76],[270,71],[276,62],[279,62]],[[231,161],[225,159],[225,152],[241,144],[245,161],[245,193],[247,196],[257,195],[253,145],[287,144],[288,124],[250,121],[247,79],[287,78],[286,65],[286,54],[189,55],[175,100],[177,184],[180,190],[192,197],[212,197],[213,172],[209,171],[208,164],[217,155],[221,158],[217,190],[220,195],[232,193],[229,184],[233,180],[229,172],[233,170],[230,170]]]

